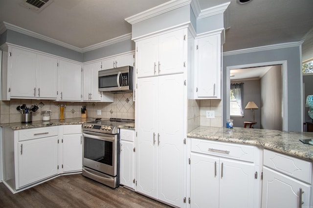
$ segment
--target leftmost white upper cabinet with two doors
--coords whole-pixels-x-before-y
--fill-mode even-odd
[[[19,48],[9,50],[8,99],[56,99],[58,60]]]

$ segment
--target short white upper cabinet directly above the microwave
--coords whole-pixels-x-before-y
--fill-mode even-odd
[[[118,55],[102,61],[102,70],[121,66],[134,66],[134,53]]]

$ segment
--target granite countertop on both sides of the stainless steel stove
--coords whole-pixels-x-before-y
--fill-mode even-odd
[[[108,119],[102,119],[108,120]],[[2,127],[11,128],[12,130],[20,130],[20,129],[27,129],[27,128],[39,128],[39,127],[46,127],[46,126],[54,126],[54,125],[81,125],[86,122],[93,122],[94,118],[71,118],[71,119],[64,119],[64,120],[50,120],[50,121],[33,121],[31,123],[8,123],[8,124],[0,124]],[[127,129],[134,129],[134,123],[122,124],[119,125],[119,128],[127,128]]]

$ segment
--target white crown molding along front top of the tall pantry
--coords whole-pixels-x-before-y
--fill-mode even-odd
[[[157,15],[172,11],[179,7],[190,4],[191,0],[171,0],[166,3],[160,4],[156,7],[148,9],[146,11],[140,12],[136,15],[128,17],[125,19],[130,24],[134,24],[140,21],[147,20],[149,18],[155,17]]]

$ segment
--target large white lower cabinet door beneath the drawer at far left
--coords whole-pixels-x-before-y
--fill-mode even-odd
[[[17,188],[56,175],[57,172],[57,136],[18,142]]]

